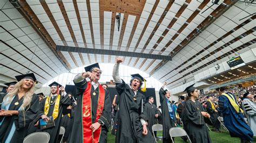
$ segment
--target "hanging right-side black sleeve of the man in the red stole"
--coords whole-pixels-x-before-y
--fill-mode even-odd
[[[102,111],[102,116],[99,117],[99,120],[102,120],[104,123],[104,126],[106,128],[110,127],[111,122],[111,101],[109,96],[109,91],[105,90],[105,102],[104,102],[104,108]]]

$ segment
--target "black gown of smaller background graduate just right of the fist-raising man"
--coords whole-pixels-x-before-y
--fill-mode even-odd
[[[160,113],[158,113],[157,106],[154,104],[150,104],[150,103],[145,104],[145,111],[146,111],[146,115],[147,115],[147,119],[148,119],[147,127],[149,127],[149,130],[152,133],[152,126],[154,124],[157,124],[156,114],[158,114],[158,116],[159,116]]]

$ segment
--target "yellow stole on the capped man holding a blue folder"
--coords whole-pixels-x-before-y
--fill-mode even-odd
[[[49,108],[50,108],[50,98],[51,96],[46,97],[45,100],[45,104],[44,104],[44,115],[48,115],[49,112]],[[60,95],[58,95],[56,97],[56,101],[55,101],[55,105],[54,105],[54,109],[53,109],[53,113],[52,113],[52,117],[53,119],[56,119],[58,117],[58,113],[59,113],[59,101],[60,101]]]

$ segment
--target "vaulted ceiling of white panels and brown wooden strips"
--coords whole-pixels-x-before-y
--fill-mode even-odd
[[[191,78],[199,71],[213,66],[213,63],[227,60],[227,55],[255,47],[255,16],[239,20],[255,12],[253,5],[245,3],[222,0],[202,13],[212,5],[211,1],[19,2],[21,8],[15,9],[8,0],[1,1],[1,15],[7,17],[1,17],[2,28],[5,28],[5,31],[1,30],[1,34],[11,34],[15,30],[8,28],[8,22],[15,23],[16,28],[22,30],[23,27],[15,22],[16,19],[22,19],[23,23],[30,25],[38,39],[50,49],[52,58],[58,60],[58,64],[53,64],[49,61],[52,60],[50,57],[45,61],[37,50],[31,51],[41,61],[32,63],[32,66],[44,70],[42,74],[41,70],[37,73],[43,83],[68,69],[95,62],[114,63],[116,58],[110,55],[57,52],[56,45],[172,56],[173,61],[133,58],[132,55],[124,57],[124,65],[143,70],[161,82],[167,81],[171,88],[176,87],[176,83],[184,78]],[[18,12],[21,16],[12,16],[11,12]],[[119,31],[116,20],[118,13],[121,13]],[[23,32],[26,33],[25,30]],[[16,35],[14,37],[17,38]],[[10,39],[1,41],[5,42],[5,49],[8,49],[6,45],[12,47]],[[33,39],[30,41],[35,42]],[[19,45],[23,42],[21,40]],[[39,47],[38,45],[34,47]],[[43,51],[44,48],[40,49]],[[2,52],[3,59],[7,56],[10,55]],[[13,60],[16,59],[12,59],[12,62]],[[32,62],[30,58],[26,61]],[[45,65],[52,63],[58,70],[55,71],[51,66],[44,69],[45,65],[40,64],[42,61]],[[15,70],[14,74],[19,71],[8,64],[1,66]],[[32,71],[31,68],[28,70]],[[45,77],[45,74],[52,72],[50,70],[55,71],[54,74]],[[24,74],[24,71],[19,73]]]

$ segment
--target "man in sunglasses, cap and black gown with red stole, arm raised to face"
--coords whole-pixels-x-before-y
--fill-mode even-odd
[[[77,107],[69,142],[106,142],[111,121],[109,92],[99,84],[99,64],[85,67],[75,76]],[[85,78],[91,81],[86,81]]]

